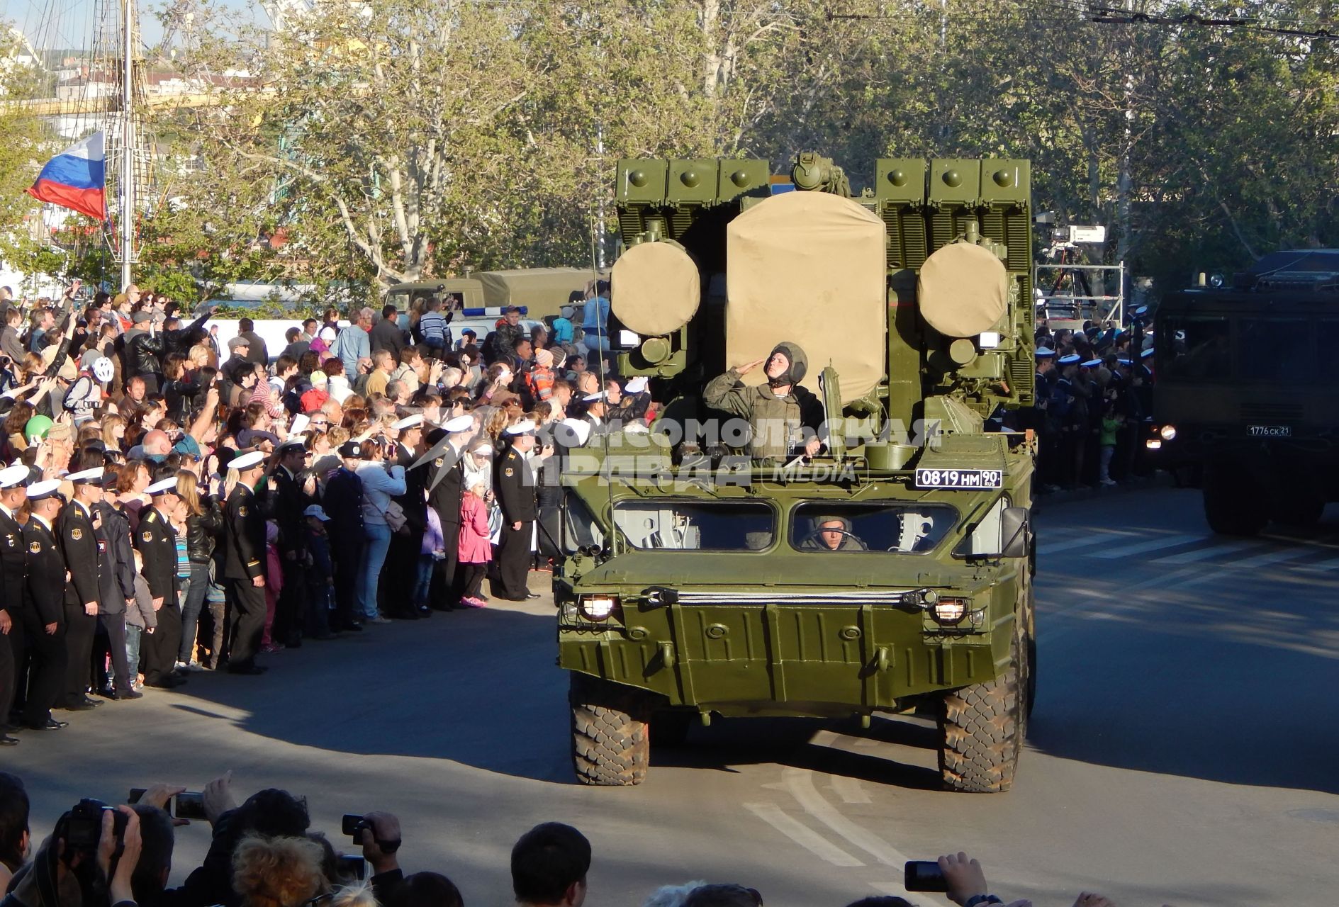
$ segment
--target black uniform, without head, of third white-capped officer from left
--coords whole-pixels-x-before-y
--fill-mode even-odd
[[[71,500],[56,518],[56,535],[60,538],[60,552],[66,558],[66,685],[58,697],[67,709],[84,706],[88,676],[92,668],[92,638],[98,631],[98,615],[86,614],[84,603],[96,603],[102,595],[98,591],[100,555],[92,519],[84,504]]]

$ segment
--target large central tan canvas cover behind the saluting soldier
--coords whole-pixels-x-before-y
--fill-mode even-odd
[[[841,195],[785,193],[731,221],[726,250],[727,365],[790,340],[809,357],[801,384],[814,393],[829,364],[844,403],[878,384],[888,346],[882,221]],[[761,367],[744,376],[763,380]]]

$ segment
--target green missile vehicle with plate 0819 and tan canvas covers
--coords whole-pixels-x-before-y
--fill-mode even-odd
[[[1035,449],[988,419],[1032,401],[1028,163],[880,161],[857,198],[814,154],[789,179],[617,179],[608,336],[656,409],[565,455],[577,777],[637,784],[652,741],[718,714],[921,710],[948,788],[1007,791],[1035,689]],[[791,380],[817,431],[707,403]]]

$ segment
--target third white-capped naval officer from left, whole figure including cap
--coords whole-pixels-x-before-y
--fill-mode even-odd
[[[91,451],[80,462],[80,470],[66,476],[74,486],[74,499],[56,519],[60,552],[66,558],[66,686],[60,697],[70,712],[87,712],[95,705],[86,694],[92,664],[92,638],[98,631],[98,573],[102,554],[98,551],[96,530],[100,516],[92,507],[102,500],[102,454]]]

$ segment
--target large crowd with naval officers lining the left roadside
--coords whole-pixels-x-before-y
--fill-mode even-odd
[[[51,709],[483,607],[485,579],[537,598],[556,447],[655,415],[645,379],[608,376],[603,328],[576,336],[573,308],[561,342],[516,309],[482,340],[453,337],[439,300],[331,309],[274,355],[249,318],[221,348],[210,310],[183,324],[135,286],[76,292],[0,292],[0,348],[31,350],[0,359],[5,745],[67,726]]]

